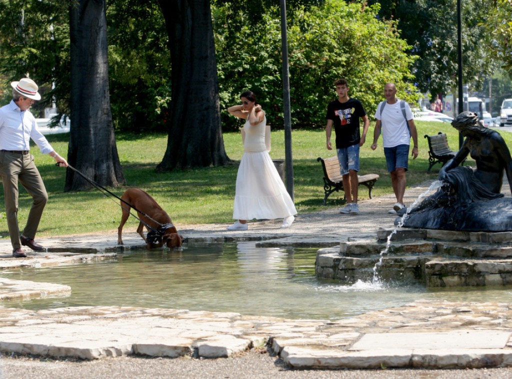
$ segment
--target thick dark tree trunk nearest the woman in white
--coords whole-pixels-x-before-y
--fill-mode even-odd
[[[169,35],[172,102],[157,171],[225,165],[209,0],[158,0]]]

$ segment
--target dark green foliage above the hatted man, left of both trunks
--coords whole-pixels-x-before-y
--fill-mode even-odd
[[[69,102],[69,15],[74,0],[0,0],[0,73],[5,83],[29,75],[39,84],[42,99],[32,107],[36,116],[55,99],[62,113]],[[55,88],[52,89],[52,83]],[[6,86],[2,85],[2,88]],[[7,86],[10,88],[10,86]],[[3,103],[10,91],[2,93]]]

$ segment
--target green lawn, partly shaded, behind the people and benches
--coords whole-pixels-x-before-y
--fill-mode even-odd
[[[428,144],[423,135],[433,135],[442,131],[448,135],[452,149],[458,147],[458,134],[450,124],[418,121],[419,157],[410,160],[407,173],[408,185],[435,179],[440,164],[434,166],[432,174],[428,169]],[[373,196],[393,193],[391,180],[386,171],[383,157],[382,140],[376,151],[370,149],[373,139],[373,125],[367,142],[361,148],[360,174],[380,175]],[[512,134],[501,133],[507,143],[512,142]],[[49,136],[54,149],[66,156],[68,138],[65,135]],[[127,186],[139,187],[147,191],[166,210],[178,228],[189,223],[214,223],[232,221],[232,207],[238,162],[242,158],[243,148],[239,133],[225,133],[226,153],[233,164],[223,167],[205,167],[195,170],[174,171],[157,174],[155,167],[160,163],[167,145],[167,135],[157,134],[139,136],[119,134],[117,149]],[[324,130],[296,130],[292,132],[293,170],[295,186],[295,204],[299,213],[317,212],[338,207],[342,204],[343,194],[332,194],[323,205],[323,173],[317,157],[331,157],[335,151],[325,147]],[[114,231],[119,225],[121,210],[118,200],[104,197],[97,189],[91,191],[64,193],[66,170],[56,167],[48,155],[40,154],[37,147],[32,148],[36,165],[45,181],[49,202],[39,225],[38,237]],[[284,159],[284,131],[272,132],[272,159]],[[470,161],[471,164],[471,161]],[[21,186],[20,186],[21,188]],[[112,192],[120,196],[126,187],[113,188]],[[360,188],[360,199],[368,196],[365,187]],[[4,204],[3,191],[0,204]],[[20,189],[18,219],[23,230],[29,207],[30,196]],[[5,218],[5,212],[0,213]],[[131,217],[127,223],[136,226],[138,221]],[[8,238],[7,223],[0,223],[0,236]]]

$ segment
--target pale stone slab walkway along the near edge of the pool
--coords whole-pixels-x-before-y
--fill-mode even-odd
[[[512,307],[416,301],[338,321],[132,307],[0,308],[0,349],[101,359],[227,357],[268,343],[297,368],[512,365]]]

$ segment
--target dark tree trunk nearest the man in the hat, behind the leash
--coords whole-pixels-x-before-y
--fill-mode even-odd
[[[71,133],[68,162],[102,186],[126,181],[117,154],[110,109],[105,0],[78,0],[70,8]],[[73,170],[65,191],[90,188]]]

